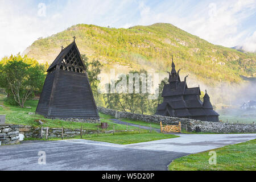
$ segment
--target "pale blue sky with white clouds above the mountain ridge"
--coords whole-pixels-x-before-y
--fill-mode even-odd
[[[171,23],[213,44],[256,51],[256,0],[0,0],[0,59],[79,23]]]

